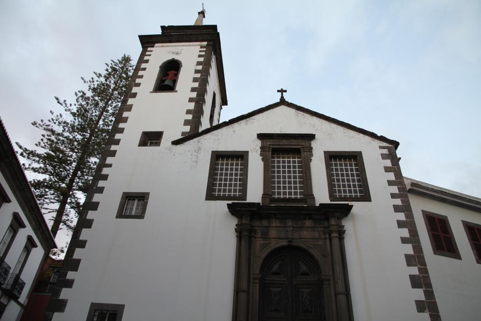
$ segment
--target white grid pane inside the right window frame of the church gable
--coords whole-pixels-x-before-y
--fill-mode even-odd
[[[330,156],[329,171],[334,197],[364,197],[357,157]]]

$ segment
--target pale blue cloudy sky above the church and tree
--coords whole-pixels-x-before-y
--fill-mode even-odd
[[[481,197],[481,1],[207,1],[220,33],[221,121],[279,100],[400,142],[403,175]],[[31,122],[81,76],[141,51],[138,35],[192,25],[201,2],[0,0],[0,116]],[[27,174],[28,175],[28,174]]]

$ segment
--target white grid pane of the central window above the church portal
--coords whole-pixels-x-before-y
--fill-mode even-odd
[[[271,188],[274,198],[302,198],[304,196],[304,176],[300,153],[272,153]]]

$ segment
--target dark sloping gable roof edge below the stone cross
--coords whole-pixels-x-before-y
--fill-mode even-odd
[[[250,118],[250,117],[253,117],[255,115],[259,115],[259,114],[262,114],[264,112],[267,112],[267,111],[270,111],[271,109],[274,109],[276,107],[279,107],[279,106],[286,106],[286,107],[289,107],[289,108],[292,108],[296,111],[299,111],[301,113],[305,113],[307,115],[311,115],[313,117],[317,117],[319,119],[323,119],[323,120],[326,120],[330,123],[333,123],[335,125],[338,125],[338,126],[341,126],[341,127],[344,127],[344,128],[347,128],[351,131],[354,131],[356,133],[359,133],[359,134],[362,134],[362,135],[365,135],[365,136],[368,136],[368,137],[371,137],[371,138],[374,138],[374,139],[377,139],[377,140],[380,140],[380,141],[383,141],[385,143],[388,143],[392,146],[394,146],[396,149],[397,147],[399,146],[399,142],[396,141],[396,140],[393,140],[393,139],[389,139],[387,137],[384,137],[384,136],[380,136],[380,135],[377,135],[373,132],[370,132],[370,131],[367,131],[365,129],[362,129],[362,128],[359,128],[359,127],[356,127],[354,125],[351,125],[349,123],[346,123],[344,121],[341,121],[341,120],[338,120],[336,118],[332,118],[332,117],[329,117],[329,116],[326,116],[324,114],[320,114],[320,113],[317,113],[317,112],[314,112],[313,110],[310,110],[310,109],[307,109],[305,107],[302,107],[302,106],[299,106],[299,105],[296,105],[296,104],[293,104],[291,102],[288,102],[286,100],[280,100],[278,102],[275,102],[273,104],[270,104],[270,105],[267,105],[265,107],[262,107],[262,108],[259,108],[259,109],[256,109],[250,113],[247,113],[247,114],[244,114],[244,115],[240,115],[240,116],[237,116],[237,117],[234,117],[232,119],[229,119],[227,121],[223,121],[221,122],[220,124],[217,124],[215,126],[212,126],[212,127],[209,127],[209,128],[206,128],[204,129],[203,131],[200,131],[198,133],[195,133],[195,134],[190,134],[190,135],[187,135],[187,136],[184,136],[182,138],[178,138],[178,139],[175,139],[172,141],[172,144],[173,145],[179,145],[179,144],[182,144],[186,141],[189,141],[191,139],[194,139],[194,138],[197,138],[197,137],[200,137],[200,136],[203,136],[205,134],[208,134],[208,133],[211,133],[211,132],[214,132],[218,129],[221,129],[221,128],[224,128],[226,126],[229,126],[229,125],[232,125],[232,124],[235,124],[241,120],[244,120],[244,119],[247,119],[247,118]]]

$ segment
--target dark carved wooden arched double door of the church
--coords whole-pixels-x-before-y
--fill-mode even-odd
[[[267,255],[259,287],[259,321],[324,320],[319,268],[304,250],[285,247]]]

